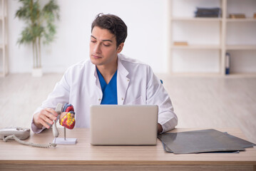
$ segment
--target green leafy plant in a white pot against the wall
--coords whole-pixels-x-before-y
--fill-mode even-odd
[[[59,7],[55,0],[50,0],[42,8],[39,0],[19,0],[22,6],[15,16],[26,22],[21,31],[19,44],[30,44],[33,47],[32,76],[42,76],[41,42],[50,43],[54,39],[56,26],[53,22],[59,19]],[[45,2],[45,1],[43,1]]]

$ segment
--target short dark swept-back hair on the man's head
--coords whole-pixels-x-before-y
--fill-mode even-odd
[[[116,47],[118,47],[120,43],[126,41],[127,26],[118,16],[100,13],[96,16],[93,24],[91,24],[91,32],[95,26],[108,29],[111,33],[113,33],[116,36]]]

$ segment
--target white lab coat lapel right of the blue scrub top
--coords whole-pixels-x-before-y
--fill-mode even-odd
[[[129,72],[123,66],[118,56],[118,75],[117,75],[117,93],[118,93],[118,105],[123,105],[126,98],[126,90],[130,83],[130,78],[128,78]]]

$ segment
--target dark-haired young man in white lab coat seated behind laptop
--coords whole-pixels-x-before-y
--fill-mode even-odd
[[[41,133],[49,128],[47,123],[52,125],[57,119],[57,103],[73,105],[76,128],[90,127],[90,106],[99,104],[158,105],[158,133],[175,128],[178,119],[173,105],[150,66],[121,54],[126,36],[127,26],[118,16],[96,16],[91,26],[90,60],[68,68],[34,113],[34,133]]]

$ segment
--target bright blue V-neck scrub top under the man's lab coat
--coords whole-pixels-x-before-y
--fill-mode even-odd
[[[117,93],[117,87],[116,87],[116,76],[118,71],[116,70],[116,73],[111,78],[111,81],[107,84],[103,76],[101,75],[100,71],[98,71],[98,68],[96,68],[96,70],[98,74],[98,79],[100,80],[100,83],[101,83],[101,90],[103,93],[101,105],[117,105],[118,93]]]

